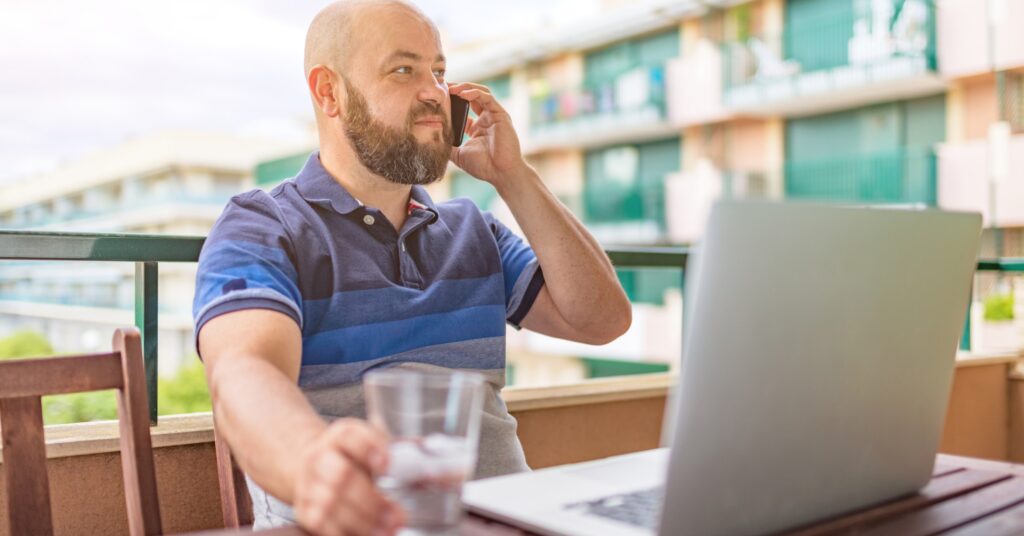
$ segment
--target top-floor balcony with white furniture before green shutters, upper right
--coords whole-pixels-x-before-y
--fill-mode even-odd
[[[723,44],[724,105],[796,117],[937,93],[935,18],[931,0],[786,4],[781,33]]]

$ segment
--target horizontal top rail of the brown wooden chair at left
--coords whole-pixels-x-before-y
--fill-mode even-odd
[[[142,382],[145,385],[145,381]],[[92,354],[0,363],[0,394],[4,398],[41,397],[124,385],[121,354]]]

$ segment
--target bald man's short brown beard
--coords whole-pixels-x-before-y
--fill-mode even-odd
[[[404,131],[391,128],[374,119],[367,100],[345,80],[348,109],[345,113],[345,134],[359,162],[374,174],[397,184],[429,184],[439,180],[452,156],[452,125],[440,105],[419,102],[409,113]],[[441,118],[440,132],[426,143],[417,141],[413,126],[417,119],[436,115]]]

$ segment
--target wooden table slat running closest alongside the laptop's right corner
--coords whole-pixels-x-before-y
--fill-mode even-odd
[[[943,472],[936,477],[919,493],[902,499],[896,499],[881,505],[845,513],[834,521],[815,523],[806,529],[790,533],[793,536],[816,536],[820,534],[836,534],[867,525],[879,524],[896,516],[911,510],[926,508],[932,504],[970,493],[979,488],[990,486],[1010,478],[1009,475],[987,470],[965,469]]]

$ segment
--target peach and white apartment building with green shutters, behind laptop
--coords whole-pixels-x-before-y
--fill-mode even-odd
[[[449,79],[492,88],[529,162],[608,246],[692,244],[714,200],[765,198],[978,210],[983,254],[1013,256],[1024,254],[1021,19],[1020,0],[608,1],[450,50]],[[304,158],[261,163],[257,183]],[[470,197],[514,225],[488,184],[454,167],[436,199]],[[620,278],[635,303],[625,337],[588,347],[510,332],[510,363],[586,357],[530,365],[557,379],[674,361],[679,272]],[[979,281],[982,294],[997,284]]]

